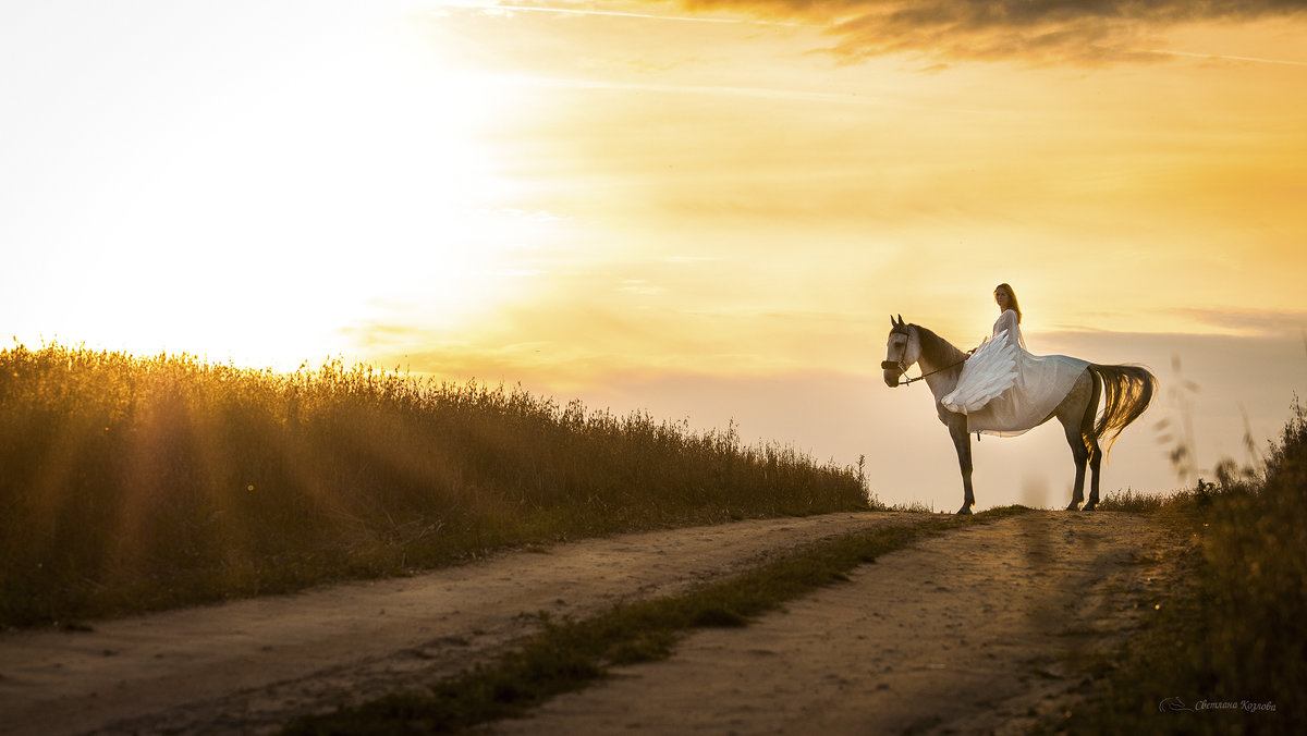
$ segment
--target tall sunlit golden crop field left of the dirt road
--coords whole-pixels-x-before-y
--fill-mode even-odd
[[[733,429],[502,386],[0,352],[0,626],[869,501],[857,468],[744,446]]]

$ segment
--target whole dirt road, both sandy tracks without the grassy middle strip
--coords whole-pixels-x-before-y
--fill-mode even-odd
[[[0,733],[263,732],[493,658],[540,611],[668,595],[813,540],[921,515],[625,535],[420,577],[0,635]],[[695,633],[505,733],[1019,729],[1165,574],[1146,519],[1030,512],[887,554],[741,630]],[[1144,560],[1145,563],[1137,563]],[[1132,563],[1133,562],[1133,563]]]

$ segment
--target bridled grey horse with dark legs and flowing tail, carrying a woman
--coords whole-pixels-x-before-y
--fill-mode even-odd
[[[958,451],[958,465],[962,469],[962,489],[965,498],[958,514],[970,514],[976,499],[971,489],[971,435],[967,431],[967,416],[951,412],[940,403],[958,383],[962,363],[967,353],[951,343],[916,324],[904,324],[903,318],[890,318],[889,340],[885,344],[885,384],[899,386],[899,379],[912,363],[919,363],[921,376],[908,378],[904,383],[925,380],[935,395],[935,410],[940,421],[949,427],[953,447]],[[1057,404],[1051,414],[1038,424],[1057,417],[1067,433],[1072,458],[1076,460],[1076,488],[1068,511],[1080,509],[1085,501],[1085,467],[1093,471],[1089,503],[1085,511],[1098,506],[1098,478],[1103,461],[1100,441],[1106,438],[1108,450],[1112,442],[1131,422],[1140,418],[1148,409],[1157,391],[1157,376],[1141,366],[1103,366],[1091,363],[1076,379],[1070,391]],[[1103,410],[1098,412],[1099,399],[1104,397]]]

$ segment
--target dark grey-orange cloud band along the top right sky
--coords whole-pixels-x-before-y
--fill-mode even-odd
[[[682,0],[823,22],[846,60],[918,52],[942,61],[1022,59],[1106,63],[1165,58],[1162,31],[1191,22],[1244,22],[1300,14],[1303,0]]]

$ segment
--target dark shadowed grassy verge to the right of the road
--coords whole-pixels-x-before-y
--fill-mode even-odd
[[[1155,616],[1102,661],[1098,697],[1050,731],[1307,733],[1307,413],[1263,468],[1218,465],[1216,481],[1144,511],[1195,540]]]

